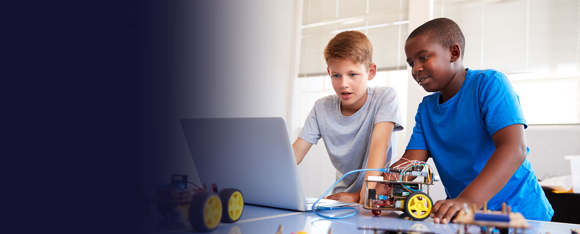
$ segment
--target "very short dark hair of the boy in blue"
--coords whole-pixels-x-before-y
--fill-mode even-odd
[[[463,60],[463,54],[465,52],[465,37],[461,28],[453,20],[447,18],[437,18],[427,23],[420,25],[418,28],[413,30],[407,41],[409,39],[415,38],[416,36],[427,36],[431,43],[437,43],[448,49],[453,44],[457,43],[459,49],[461,49],[461,59]]]

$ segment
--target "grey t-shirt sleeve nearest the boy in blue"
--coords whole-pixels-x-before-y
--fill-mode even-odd
[[[385,96],[380,99],[375,114],[375,125],[380,122],[393,122],[395,124],[393,131],[403,130],[401,109],[399,108],[398,95],[395,89],[386,90]]]

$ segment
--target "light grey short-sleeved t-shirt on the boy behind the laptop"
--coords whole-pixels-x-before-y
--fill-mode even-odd
[[[351,116],[342,115],[336,94],[318,99],[298,135],[311,144],[317,144],[322,138],[336,168],[336,180],[351,170],[367,168],[368,147],[376,123],[395,124],[386,162],[397,155],[395,131],[403,130],[397,92],[393,87],[367,87],[367,94],[365,104]],[[336,185],[333,193],[356,192],[361,189],[362,180],[364,171],[349,174]]]

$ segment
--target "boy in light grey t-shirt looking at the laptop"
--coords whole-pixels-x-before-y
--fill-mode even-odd
[[[392,87],[367,87],[376,75],[372,45],[358,31],[340,32],[324,49],[328,75],[336,94],[314,104],[292,144],[300,164],[312,144],[322,138],[336,168],[336,179],[357,169],[383,168],[396,155],[396,134],[403,130],[397,93]],[[362,180],[380,171],[349,174],[327,199],[363,202]],[[383,191],[369,182],[369,188]],[[338,192],[338,193],[337,193]]]

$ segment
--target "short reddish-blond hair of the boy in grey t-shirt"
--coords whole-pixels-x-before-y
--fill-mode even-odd
[[[372,64],[371,41],[359,31],[340,32],[324,48],[324,60],[328,66],[334,60],[350,60],[369,70]]]

